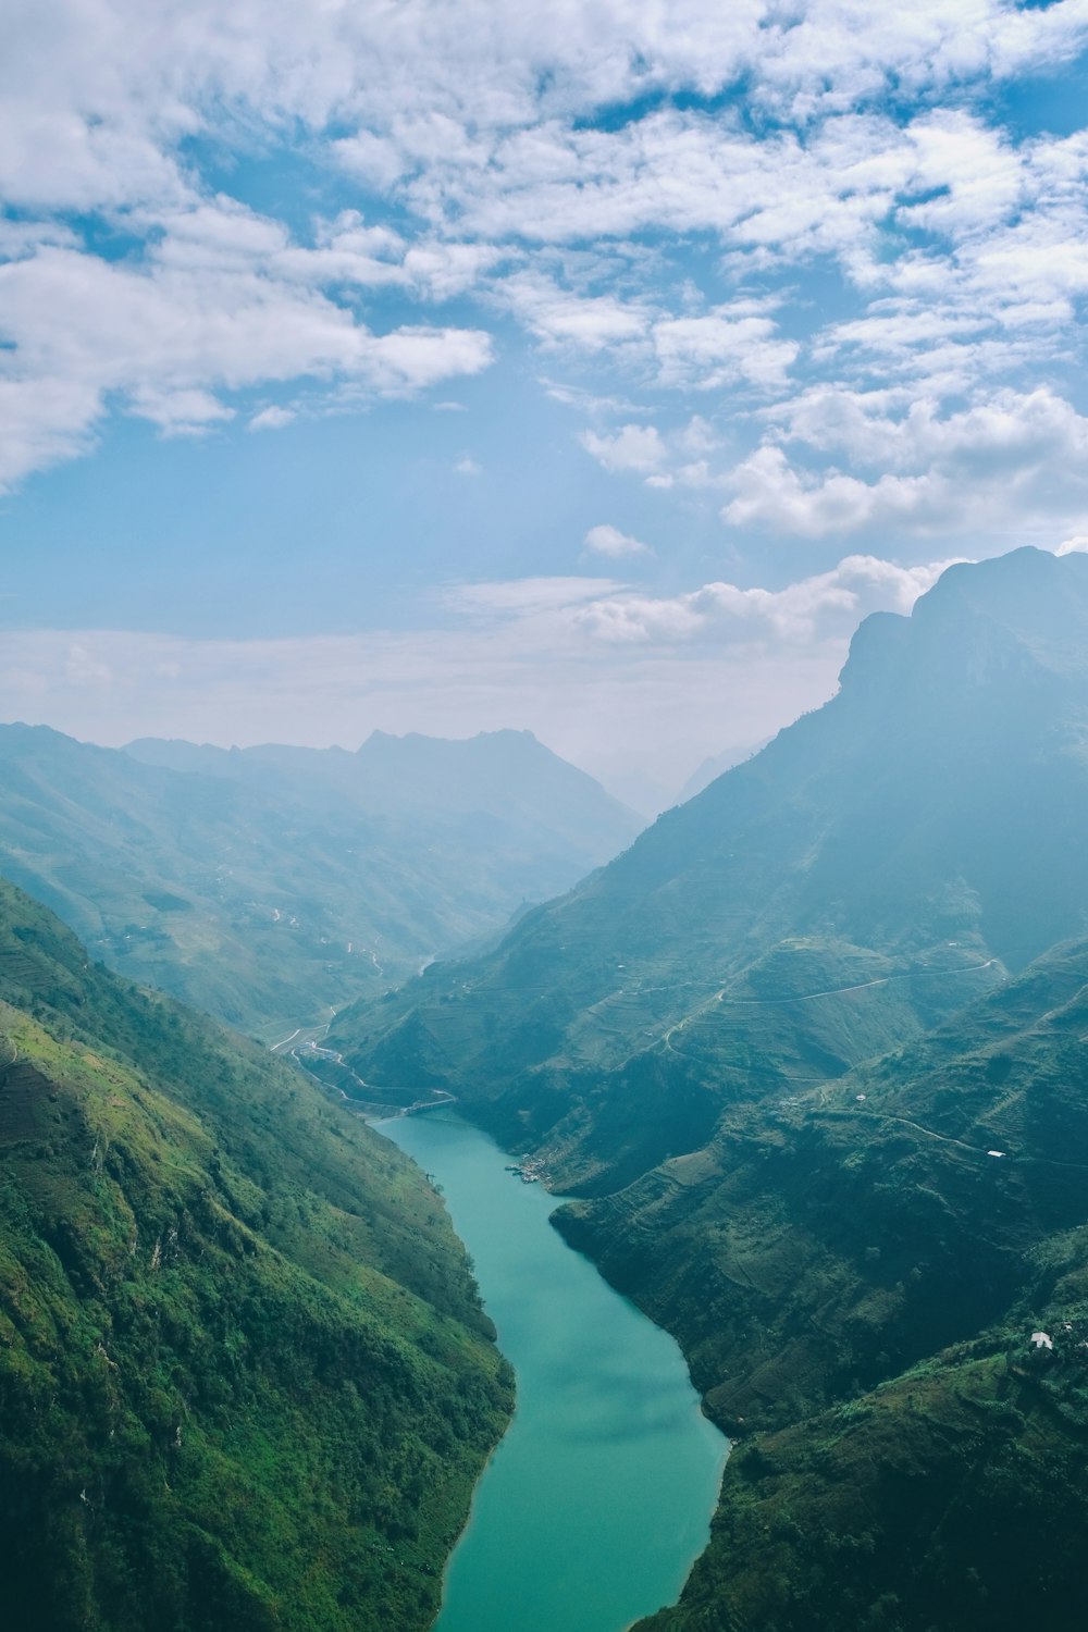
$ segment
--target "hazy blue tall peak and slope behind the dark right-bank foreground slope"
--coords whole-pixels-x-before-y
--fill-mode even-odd
[[[1085,924],[1086,653],[1085,557],[953,568],[861,627],[830,703],[339,1046],[597,1186],[842,1074]]]

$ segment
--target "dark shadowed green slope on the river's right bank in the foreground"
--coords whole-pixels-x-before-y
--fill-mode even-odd
[[[646,1627],[1011,1629],[1039,1603],[1080,1627],[1086,1198],[1080,942],[566,1209],[739,1436],[710,1552]]]

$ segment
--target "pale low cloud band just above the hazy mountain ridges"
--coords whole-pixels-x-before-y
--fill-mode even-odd
[[[0,687],[10,716],[100,743],[354,747],[375,726],[517,725],[590,770],[679,785],[726,726],[757,741],[829,697],[858,619],[907,610],[936,571],[851,557],[780,591],[706,584],[659,599],[607,578],[468,584],[442,596],[442,627],[341,636],[13,632]]]

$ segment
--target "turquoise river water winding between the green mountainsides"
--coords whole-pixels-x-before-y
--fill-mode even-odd
[[[675,1342],[564,1245],[556,1198],[488,1134],[452,1111],[378,1129],[442,1185],[517,1373],[436,1632],[623,1632],[706,1546],[726,1441]]]

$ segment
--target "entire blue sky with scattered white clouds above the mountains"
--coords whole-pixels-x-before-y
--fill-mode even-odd
[[[643,808],[1088,545],[1088,0],[7,0],[0,718]]]

